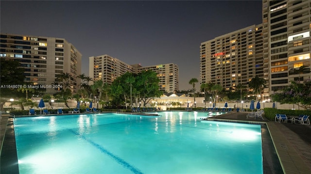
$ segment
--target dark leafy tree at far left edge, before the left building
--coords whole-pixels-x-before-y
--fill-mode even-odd
[[[10,98],[17,97],[16,88],[8,88],[7,85],[22,85],[25,75],[24,68],[19,67],[19,62],[0,59],[0,110],[3,111],[3,105]],[[6,85],[6,86],[5,86]],[[19,86],[19,88],[22,86]]]

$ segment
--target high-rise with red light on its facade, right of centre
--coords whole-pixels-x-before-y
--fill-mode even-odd
[[[201,43],[201,83],[235,91],[258,75],[263,77],[262,25],[252,25]]]

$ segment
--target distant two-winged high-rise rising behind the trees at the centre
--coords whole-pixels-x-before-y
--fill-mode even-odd
[[[94,81],[103,80],[111,84],[126,72],[139,73],[143,70],[152,70],[157,74],[160,90],[169,93],[178,91],[178,66],[174,63],[143,67],[140,64],[124,63],[109,55],[89,57],[89,77]]]

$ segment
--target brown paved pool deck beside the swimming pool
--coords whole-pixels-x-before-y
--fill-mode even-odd
[[[311,174],[311,126],[246,118],[249,112],[229,112],[214,119],[266,123],[284,174]],[[2,149],[8,118],[1,115],[0,145]],[[1,153],[1,150],[0,150]],[[2,154],[2,153],[1,153]],[[2,163],[3,161],[1,161]]]

